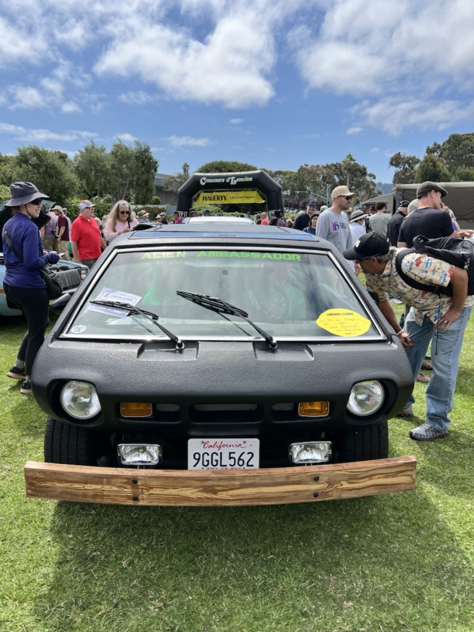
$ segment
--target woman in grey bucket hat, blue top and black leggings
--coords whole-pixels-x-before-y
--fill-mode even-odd
[[[44,252],[39,230],[32,219],[39,217],[42,201],[49,197],[31,182],[10,185],[12,217],[3,228],[3,260],[6,267],[3,288],[9,305],[25,315],[28,331],[21,341],[16,363],[8,377],[23,380],[21,393],[31,392],[33,362],[44,341],[48,324],[49,300],[39,268],[56,264],[56,252]]]

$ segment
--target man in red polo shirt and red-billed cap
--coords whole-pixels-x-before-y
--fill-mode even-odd
[[[95,204],[89,200],[82,200],[79,205],[79,216],[71,224],[73,259],[76,264],[81,263],[88,268],[92,268],[100,257],[101,249],[105,250],[107,247],[97,222],[92,218],[94,206]]]

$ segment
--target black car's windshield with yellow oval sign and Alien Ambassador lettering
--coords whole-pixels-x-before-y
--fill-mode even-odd
[[[346,273],[327,252],[196,247],[116,252],[95,277],[64,334],[167,338],[143,315],[92,303],[100,301],[152,312],[162,326],[185,339],[262,338],[237,312],[210,310],[182,293],[229,303],[279,339],[380,336]]]

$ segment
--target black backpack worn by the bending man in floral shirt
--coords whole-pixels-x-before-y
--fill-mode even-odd
[[[434,294],[444,294],[453,296],[451,284],[444,288],[440,285],[422,283],[407,276],[401,269],[401,262],[405,255],[416,252],[420,255],[429,255],[435,259],[441,259],[448,264],[456,265],[458,268],[466,270],[468,273],[468,296],[474,294],[474,242],[457,237],[440,237],[428,239],[423,235],[418,235],[413,239],[413,247],[401,250],[396,256],[395,267],[403,281],[412,288],[433,292]]]

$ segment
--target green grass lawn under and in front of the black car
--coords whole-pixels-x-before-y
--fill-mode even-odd
[[[416,489],[312,504],[121,507],[28,499],[45,417],[6,377],[25,325],[0,322],[1,632],[474,631],[474,325],[451,434],[418,459]]]

